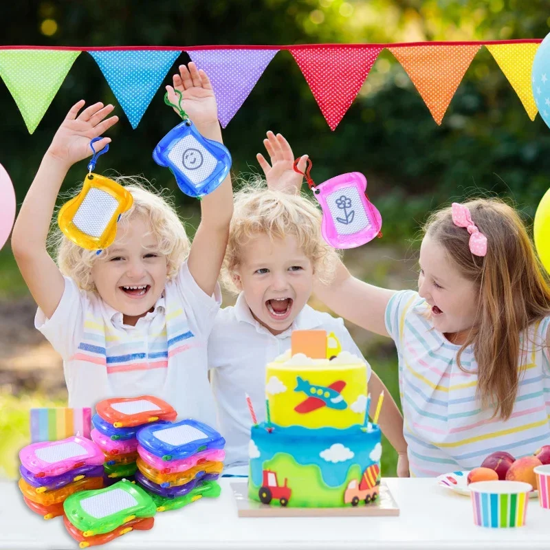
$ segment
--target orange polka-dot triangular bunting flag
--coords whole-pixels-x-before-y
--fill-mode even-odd
[[[437,124],[481,45],[388,47],[401,63]]]

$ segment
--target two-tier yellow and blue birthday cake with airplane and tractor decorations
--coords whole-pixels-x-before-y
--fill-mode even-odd
[[[269,505],[371,503],[380,485],[380,429],[367,421],[367,366],[325,331],[294,331],[267,365],[267,421],[252,426],[248,496]]]

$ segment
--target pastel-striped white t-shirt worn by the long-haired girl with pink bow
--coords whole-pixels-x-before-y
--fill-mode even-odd
[[[550,317],[522,336],[520,379],[507,421],[491,418],[476,398],[477,365],[472,347],[456,362],[459,345],[435,330],[429,306],[417,292],[392,296],[386,329],[399,358],[399,393],[412,476],[438,476],[481,465],[488,454],[507,451],[516,458],[550,443],[550,361],[546,336]]]

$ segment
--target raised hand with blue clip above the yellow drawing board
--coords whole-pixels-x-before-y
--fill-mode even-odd
[[[85,101],[80,100],[71,107],[47,151],[50,157],[61,161],[66,168],[90,157],[92,155],[91,140],[94,137],[99,137],[118,122],[116,115],[106,118],[113,111],[113,105],[109,104],[104,107],[102,103],[96,103],[78,114],[84,104]],[[94,143],[94,149],[101,151],[109,142],[111,142],[111,138],[104,137]]]

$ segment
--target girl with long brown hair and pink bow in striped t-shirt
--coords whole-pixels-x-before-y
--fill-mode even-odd
[[[319,298],[393,338],[410,474],[471,470],[550,442],[550,287],[518,213],[453,203],[424,228],[418,291],[359,281],[344,265]]]

